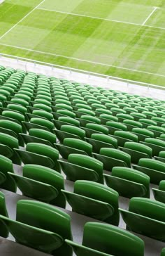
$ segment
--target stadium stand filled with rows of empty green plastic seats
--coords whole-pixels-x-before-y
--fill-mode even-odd
[[[165,101],[0,66],[0,254],[164,256],[164,127]]]

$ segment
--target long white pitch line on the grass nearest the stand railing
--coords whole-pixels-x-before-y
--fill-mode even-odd
[[[45,51],[37,51],[37,50],[23,48],[23,47],[20,47],[20,46],[13,46],[13,45],[10,45],[10,44],[1,44],[0,43],[0,45],[8,46],[8,47],[13,47],[15,49],[21,49],[21,50],[25,50],[25,51],[32,51],[34,53],[42,53],[42,54],[46,54],[46,55],[50,55],[50,56],[56,56],[56,57],[61,57],[61,58],[68,58],[70,60],[78,60],[78,61],[82,61],[82,62],[85,62],[85,63],[92,63],[92,64],[96,64],[96,65],[103,65],[103,66],[106,66],[106,67],[109,67],[109,68],[118,68],[120,70],[129,70],[129,71],[132,71],[132,72],[139,72],[139,73],[148,74],[148,75],[156,75],[158,77],[165,77],[165,75],[160,75],[160,74],[156,74],[156,73],[152,73],[152,72],[145,72],[145,71],[140,71],[140,70],[134,70],[134,69],[131,69],[131,68],[122,68],[120,66],[108,65],[108,64],[105,64],[105,63],[99,63],[99,62],[95,62],[95,61],[92,61],[92,60],[83,60],[81,58],[74,58],[74,57],[59,55],[59,54],[55,54],[55,53],[46,53]]]

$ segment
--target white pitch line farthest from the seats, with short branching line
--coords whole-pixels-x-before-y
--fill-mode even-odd
[[[155,7],[155,8],[159,8],[159,7]],[[101,18],[101,17],[96,17],[96,16],[89,16],[89,15],[83,15],[83,14],[78,14],[78,13],[68,13],[65,11],[55,11],[55,10],[50,10],[47,8],[37,8],[38,10],[43,10],[43,11],[52,11],[55,13],[63,13],[63,14],[68,14],[68,15],[74,15],[74,16],[79,16],[79,17],[86,17],[86,18],[92,18],[92,19],[96,19],[96,20],[106,20],[106,21],[112,21],[114,23],[124,23],[124,24],[129,24],[129,25],[136,25],[136,26],[141,26],[141,24],[138,23],[129,23],[127,21],[120,21],[120,20],[111,20],[111,19],[107,19],[107,18]],[[155,10],[154,10],[155,11]],[[153,11],[152,11],[153,12]],[[150,15],[151,16],[151,15]],[[149,17],[150,18],[150,17]],[[147,20],[146,20],[147,21]],[[145,21],[145,23],[146,23]],[[144,27],[153,27],[153,28],[157,28],[160,30],[165,30],[165,27],[156,27],[156,26],[150,26],[150,25],[143,25]]]

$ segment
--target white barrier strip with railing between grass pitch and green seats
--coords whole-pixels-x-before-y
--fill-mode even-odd
[[[148,84],[145,82],[138,82],[130,79],[123,79],[120,77],[113,77],[96,72],[88,72],[76,68],[69,68],[66,66],[0,53],[0,65],[3,64],[6,66],[13,66],[13,68],[23,68],[26,71],[34,71],[40,74],[45,73],[45,75],[48,76],[58,75],[58,77],[65,77],[66,79],[78,82],[83,81],[85,83],[91,82],[94,84],[95,79],[94,85],[96,86],[101,85],[107,89],[111,87],[121,91],[128,91],[133,94],[139,94],[139,92],[141,92],[140,94],[143,95],[145,92],[145,96],[148,95],[152,97],[155,97],[155,94],[159,94],[159,98],[165,100],[165,87],[157,84]]]

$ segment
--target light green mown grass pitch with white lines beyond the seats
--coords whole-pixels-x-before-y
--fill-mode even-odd
[[[165,1],[6,0],[0,53],[165,86]]]

